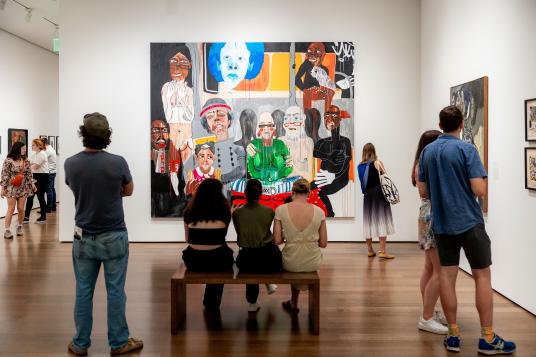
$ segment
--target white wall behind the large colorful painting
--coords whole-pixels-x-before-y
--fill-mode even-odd
[[[418,0],[72,0],[61,3],[60,15],[61,161],[81,150],[76,131],[85,113],[108,116],[109,150],[126,158],[134,177],[134,195],[124,203],[132,241],[184,239],[180,220],[150,217],[149,44],[228,40],[356,42],[355,157],[366,142],[376,145],[401,191],[391,239],[416,239],[410,171],[420,125]],[[74,199],[63,182],[61,190],[60,240],[71,240]],[[355,192],[356,217],[330,220],[330,240],[363,239],[358,184]]]

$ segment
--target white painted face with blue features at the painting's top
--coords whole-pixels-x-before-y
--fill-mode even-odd
[[[249,63],[249,50],[245,42],[226,42],[220,52],[220,71],[227,87],[233,89],[245,77]]]

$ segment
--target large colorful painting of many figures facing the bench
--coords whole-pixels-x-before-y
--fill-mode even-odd
[[[299,178],[329,217],[353,217],[352,42],[151,44],[151,215],[180,217],[205,178],[275,208]]]

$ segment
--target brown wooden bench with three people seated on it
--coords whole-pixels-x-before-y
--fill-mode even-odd
[[[229,272],[200,273],[187,271],[184,264],[171,277],[171,333],[176,334],[186,319],[188,284],[300,284],[309,287],[309,330],[320,332],[320,278],[317,272],[246,274]]]

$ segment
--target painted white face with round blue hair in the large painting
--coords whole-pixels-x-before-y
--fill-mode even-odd
[[[262,42],[213,43],[208,54],[208,68],[224,88],[232,90],[242,80],[255,78],[264,62]]]

